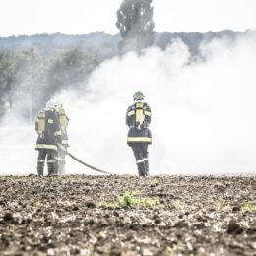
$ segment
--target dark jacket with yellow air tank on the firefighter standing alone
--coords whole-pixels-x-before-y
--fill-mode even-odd
[[[151,123],[151,108],[146,102],[136,102],[129,106],[126,112],[126,125],[129,126],[127,143],[152,143],[152,134],[149,129]]]

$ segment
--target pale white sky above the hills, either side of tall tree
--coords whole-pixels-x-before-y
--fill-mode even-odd
[[[0,0],[0,36],[118,33],[122,0]],[[256,0],[153,0],[157,32],[256,28]]]

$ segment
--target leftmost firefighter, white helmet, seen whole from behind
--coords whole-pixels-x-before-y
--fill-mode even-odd
[[[46,108],[38,113],[35,122],[35,130],[38,134],[35,149],[38,151],[37,174],[39,176],[43,176],[46,158],[48,174],[56,174],[57,143],[61,140],[57,107],[58,104],[56,101],[48,101]]]

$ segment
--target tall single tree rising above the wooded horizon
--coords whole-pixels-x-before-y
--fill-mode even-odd
[[[154,42],[152,0],[123,0],[117,11],[117,28],[122,40],[120,53],[131,50],[141,52]]]

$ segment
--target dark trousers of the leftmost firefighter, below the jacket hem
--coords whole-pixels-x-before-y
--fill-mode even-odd
[[[44,162],[47,158],[48,175],[56,173],[56,151],[49,149],[38,149],[37,174],[43,176]]]

